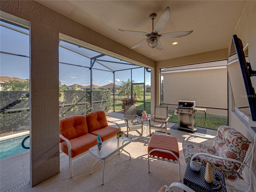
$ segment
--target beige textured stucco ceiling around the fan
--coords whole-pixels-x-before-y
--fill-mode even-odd
[[[152,49],[147,43],[134,49],[155,61],[229,48],[236,24],[246,4],[246,1],[233,0],[37,0],[37,2],[128,48],[134,46],[143,37],[120,32],[118,28],[150,33],[152,32],[150,14],[156,14],[154,21],[156,24],[169,6],[170,20],[160,33],[190,30],[194,32],[181,38],[160,38],[163,50]],[[172,42],[178,42],[178,44],[174,46]]]

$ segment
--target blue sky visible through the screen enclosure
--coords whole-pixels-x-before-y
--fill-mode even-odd
[[[29,33],[29,30],[0,22],[5,26],[16,28],[22,32]],[[67,44],[66,42],[64,44]],[[77,46],[74,48],[78,48]],[[0,26],[0,50],[1,52],[8,52],[10,54],[0,54],[0,76],[18,77],[22,79],[29,78],[29,36],[20,32],[16,32],[4,26]],[[90,50],[88,50],[90,51]],[[91,51],[90,51],[91,52]],[[93,53],[98,54],[98,53]],[[16,56],[20,55],[20,56]],[[113,58],[114,59],[114,58]],[[62,47],[59,48],[59,61],[73,65],[90,66],[90,59]],[[116,64],[118,66],[118,64]],[[119,64],[122,69],[122,64]],[[95,68],[108,70],[100,64],[94,64]],[[144,68],[133,69],[132,79],[134,82],[144,82],[143,76]],[[104,86],[106,84],[114,83],[114,75],[112,72],[102,70],[92,70],[93,84]],[[110,70],[108,70],[110,71]],[[130,70],[115,72],[115,84],[120,84],[122,81],[131,78]],[[82,86],[90,85],[90,70],[85,67],[78,67],[72,65],[61,64],[59,65],[59,80],[62,84],[67,86],[72,84],[80,84]],[[150,73],[146,74],[146,84],[150,84]]]

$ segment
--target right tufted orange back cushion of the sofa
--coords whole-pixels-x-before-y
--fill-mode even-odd
[[[92,132],[108,126],[104,111],[94,111],[86,114],[88,132]]]

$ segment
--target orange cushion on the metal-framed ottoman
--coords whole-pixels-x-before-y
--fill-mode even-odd
[[[165,136],[165,135],[152,135],[150,142],[148,144],[148,153],[152,149],[164,149],[173,152],[178,158],[180,157],[178,141],[175,137]],[[176,160],[176,158],[169,153],[154,151],[150,155],[162,157],[166,159]]]

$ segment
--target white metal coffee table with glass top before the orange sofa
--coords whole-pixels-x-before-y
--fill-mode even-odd
[[[131,155],[128,153],[126,150],[123,148],[128,145],[129,143],[132,142],[132,139],[123,136],[120,138],[116,138],[116,136],[102,142],[102,148],[98,150],[98,146],[95,145],[89,149],[90,154],[95,156],[98,160],[92,165],[92,168],[99,162],[99,161],[104,161],[103,164],[103,169],[102,169],[102,185],[104,185],[104,172],[105,172],[105,166],[106,166],[106,161],[108,158],[112,158],[112,156],[118,152],[124,151],[130,156],[131,160]],[[109,159],[108,159],[109,160]],[[92,168],[91,168],[91,174],[92,174]]]

